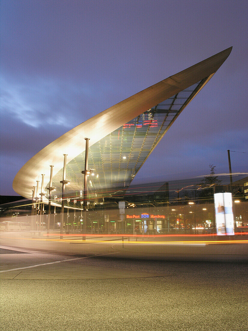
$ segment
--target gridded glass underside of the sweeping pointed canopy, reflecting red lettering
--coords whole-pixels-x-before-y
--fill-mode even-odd
[[[186,88],[169,99],[155,105],[140,116],[124,123],[89,148],[88,169],[94,175],[88,176],[88,198],[98,199],[111,192],[128,187],[166,131],[197,94],[207,78]],[[82,152],[66,166],[68,198],[83,196],[85,152]],[[53,177],[56,187],[53,200],[60,203],[62,185],[61,169]],[[69,203],[69,199],[67,199]],[[66,203],[65,203],[66,204]]]

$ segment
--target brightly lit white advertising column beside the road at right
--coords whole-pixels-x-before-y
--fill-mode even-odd
[[[234,236],[232,194],[229,192],[215,193],[214,206],[217,235]]]

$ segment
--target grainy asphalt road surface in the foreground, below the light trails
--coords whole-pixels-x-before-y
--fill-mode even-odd
[[[248,330],[247,263],[0,253],[1,330]]]

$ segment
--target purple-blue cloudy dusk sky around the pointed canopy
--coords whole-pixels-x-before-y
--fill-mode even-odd
[[[134,183],[248,171],[247,1],[1,1],[0,194],[53,140],[230,46]],[[155,171],[152,175],[151,172]]]

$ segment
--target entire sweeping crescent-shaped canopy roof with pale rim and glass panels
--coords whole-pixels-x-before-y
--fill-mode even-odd
[[[128,186],[168,128],[230,52],[231,47],[146,88],[63,134],[19,170],[13,182],[14,190],[32,198],[36,180],[41,181],[41,174],[45,174],[47,183],[50,165],[53,165],[53,186],[57,187],[56,196],[60,199],[63,154],[67,154],[66,178],[71,183],[66,195],[82,196],[84,138],[90,138],[88,168],[95,169],[95,176],[88,179],[92,197]],[[47,202],[47,198],[43,201]]]

